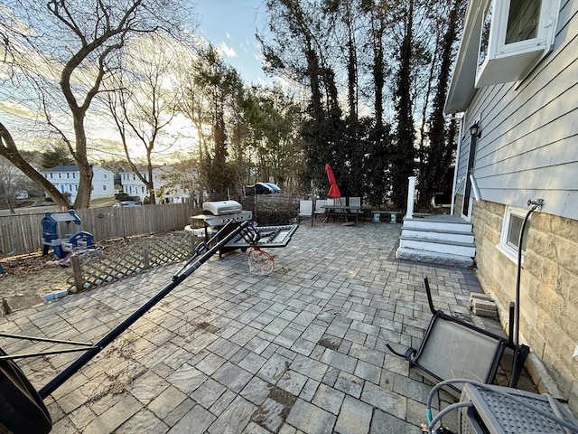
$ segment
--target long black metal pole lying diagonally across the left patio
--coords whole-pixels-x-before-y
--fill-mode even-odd
[[[235,224],[236,224],[235,222],[228,222],[225,226],[223,226],[221,231],[228,228],[229,225]],[[191,274],[195,269],[198,269],[203,263],[209,260],[211,256],[213,256],[217,251],[222,249],[228,243],[228,241],[231,241],[238,235],[238,233],[244,231],[245,228],[247,228],[248,224],[249,222],[242,222],[236,229],[230,231],[221,241],[219,241],[219,243],[217,243],[213,248],[208,250],[199,259],[194,261],[188,269],[185,269],[182,272],[182,274],[175,275],[171,283],[169,283],[154,297],[152,297],[150,300],[144,303],[142,307],[138,308],[138,310],[136,310],[134,314],[128,316],[122,323],[120,323],[119,325],[117,325],[117,327],[108,332],[107,335],[105,335],[102,339],[100,339],[100,341],[97,344],[95,344],[96,348],[90,348],[90,350],[87,353],[82,354],[77,360],[70,363],[70,365],[66,369],[64,369],[64,371],[59,373],[51,382],[42,387],[40,392],[38,392],[42,400],[47,398],[52,392],[54,392],[58,387],[60,387],[63,382],[67,381],[74,373],[77,373],[77,371],[79,371],[79,369],[82,366],[84,366],[86,363],[89,363],[89,361],[95,355],[100,353],[100,351],[102,351],[107,346],[107,344],[111,344],[115,339],[117,339],[117,337],[121,333],[123,333],[128,327],[133,325],[138,318],[143,316],[152,307],[154,307],[154,305],[156,305],[159,301],[161,301],[161,299],[163,299],[164,296],[170,293],[172,289],[178,287],[185,278],[191,276]]]

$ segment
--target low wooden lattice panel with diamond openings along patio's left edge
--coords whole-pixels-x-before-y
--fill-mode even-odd
[[[153,237],[126,250],[122,257],[109,257],[106,250],[100,256],[79,255],[83,288],[89,289],[142,273],[154,268],[191,258],[198,239],[191,232]],[[146,261],[148,259],[148,261]],[[75,287],[74,277],[67,283]]]

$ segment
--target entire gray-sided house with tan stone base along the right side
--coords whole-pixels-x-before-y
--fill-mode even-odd
[[[476,273],[501,307],[515,299],[527,201],[545,201],[531,215],[523,250],[520,336],[574,414],[577,53],[577,1],[470,0],[445,105],[447,114],[463,113],[455,213],[473,223]],[[507,315],[502,319],[506,325]]]

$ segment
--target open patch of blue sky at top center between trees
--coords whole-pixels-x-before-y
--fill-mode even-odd
[[[264,0],[192,0],[200,22],[199,33],[219,48],[244,80],[265,80],[261,71],[256,29],[262,31],[266,20]]]

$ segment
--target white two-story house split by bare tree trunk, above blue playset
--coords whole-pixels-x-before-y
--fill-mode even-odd
[[[70,194],[70,203],[74,203],[79,193],[79,167],[77,165],[57,165],[51,169],[39,171],[61,193]],[[97,165],[92,166],[92,191],[90,199],[112,197],[115,194],[115,180],[112,172]]]

